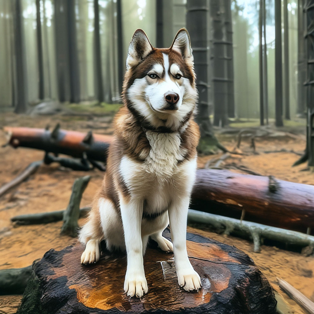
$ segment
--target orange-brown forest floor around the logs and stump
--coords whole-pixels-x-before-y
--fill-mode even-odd
[[[0,127],[27,126],[53,127],[57,122],[63,129],[89,131],[94,133],[112,134],[112,114],[88,115],[57,115],[57,116],[26,116],[5,113],[0,115]],[[249,135],[243,134],[240,148],[242,154],[228,154],[219,162],[218,168],[248,173],[253,171],[261,175],[273,175],[279,179],[314,185],[314,174],[306,169],[306,164],[291,167],[300,158],[306,145],[305,126],[296,125],[275,129],[272,127],[254,127],[243,125]],[[238,133],[243,129],[240,123],[228,129],[216,130],[221,144],[232,151],[236,147]],[[255,151],[251,147],[254,137]],[[6,138],[0,130],[0,144]],[[33,149],[10,146],[0,148],[0,187],[12,180],[27,165],[42,160],[44,152]],[[199,156],[198,166],[213,167],[220,161],[224,153]],[[225,158],[227,157],[227,158]],[[68,205],[71,188],[75,178],[86,175],[86,172],[71,171],[57,164],[41,165],[39,170],[0,198],[0,269],[19,268],[30,265],[35,259],[41,258],[51,248],[60,250],[76,239],[60,236],[62,222],[46,225],[30,225],[15,227],[10,218],[20,214],[40,213],[64,209]],[[91,180],[83,194],[81,206],[91,203],[95,190],[100,186],[103,173],[97,169],[89,171]],[[84,219],[80,219],[80,225]],[[194,225],[195,226],[195,225]],[[254,253],[252,243],[231,236],[221,236],[206,230],[200,230],[218,241],[236,245],[249,254],[257,266],[286,304],[287,311],[306,313],[285,295],[276,284],[275,277],[283,278],[314,301],[314,257],[304,257],[299,253],[289,252],[276,247],[262,246],[262,253]],[[280,297],[279,297],[280,298]],[[21,300],[20,295],[0,296],[0,313],[15,313]]]

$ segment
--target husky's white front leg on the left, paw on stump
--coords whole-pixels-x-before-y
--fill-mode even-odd
[[[140,199],[126,200],[120,198],[120,208],[124,229],[125,245],[127,248],[127,273],[124,290],[129,296],[143,296],[147,293],[147,281],[143,266],[143,243],[141,224],[143,202]]]

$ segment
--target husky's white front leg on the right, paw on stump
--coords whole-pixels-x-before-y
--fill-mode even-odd
[[[187,211],[190,199],[185,197],[174,202],[168,209],[171,240],[178,282],[185,290],[198,290],[201,279],[187,257]]]

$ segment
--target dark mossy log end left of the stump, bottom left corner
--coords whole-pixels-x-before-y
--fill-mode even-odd
[[[0,270],[0,295],[22,294],[32,273],[32,265]]]

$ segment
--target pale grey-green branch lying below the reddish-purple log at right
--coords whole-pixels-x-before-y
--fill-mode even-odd
[[[314,236],[301,232],[261,225],[249,221],[214,215],[189,209],[188,221],[209,224],[215,230],[224,230],[225,234],[249,237],[254,243],[254,252],[260,251],[261,239],[280,241],[300,247],[314,247]]]

